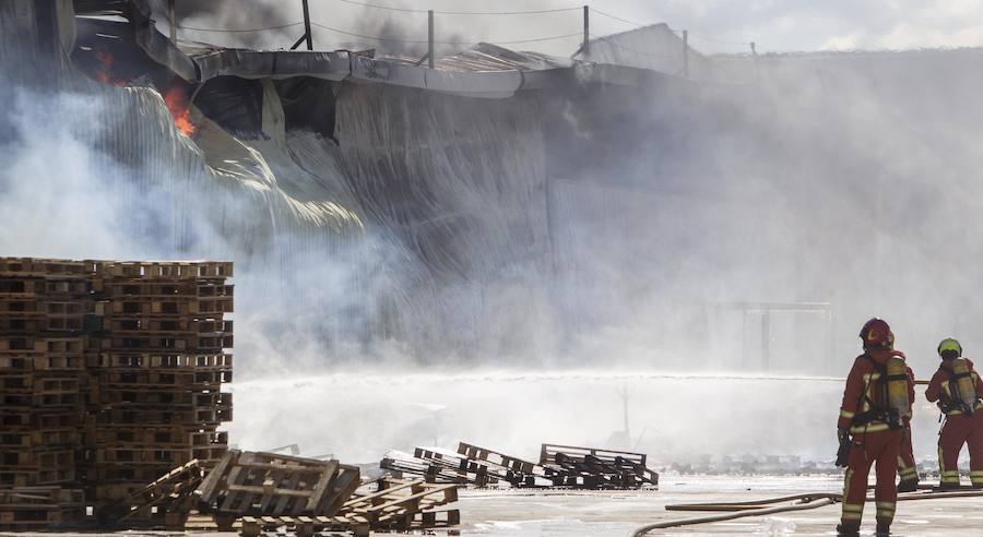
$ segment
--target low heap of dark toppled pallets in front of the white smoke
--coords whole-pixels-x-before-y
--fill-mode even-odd
[[[417,448],[390,452],[380,466],[430,482],[487,487],[499,481],[518,488],[638,489],[658,487],[659,475],[643,453],[543,444],[537,463],[460,442],[458,452]]]

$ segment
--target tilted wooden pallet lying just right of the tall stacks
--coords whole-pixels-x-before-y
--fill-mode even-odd
[[[358,468],[337,461],[229,450],[198,494],[216,513],[333,515],[359,485]]]

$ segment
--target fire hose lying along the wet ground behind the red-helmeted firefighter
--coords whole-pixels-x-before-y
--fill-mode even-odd
[[[909,494],[899,494],[898,501],[913,500],[943,500],[946,498],[978,498],[983,497],[983,490],[970,489],[963,491],[946,491],[946,492],[912,492]],[[868,501],[874,501],[868,498]],[[797,501],[792,505],[772,505],[774,503],[783,503]],[[667,529],[679,526],[691,526],[695,524],[709,524],[712,522],[733,521],[735,518],[745,518],[749,516],[763,516],[777,513],[787,513],[791,511],[805,511],[808,509],[817,509],[826,505],[832,505],[843,501],[842,494],[817,492],[807,494],[784,496],[781,498],[771,498],[766,500],[753,500],[745,502],[721,502],[721,503],[684,503],[676,505],[666,505],[666,511],[725,511],[726,514],[699,516],[695,518],[682,518],[676,521],[665,521],[654,524],[647,524],[637,527],[629,533],[629,537],[641,537],[653,529]]]

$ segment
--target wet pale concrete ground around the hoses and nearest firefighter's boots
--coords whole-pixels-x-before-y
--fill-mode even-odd
[[[529,537],[625,537],[647,523],[713,513],[665,511],[671,503],[735,502],[805,492],[840,492],[837,477],[662,476],[658,491],[540,492],[466,491],[461,510],[461,535]],[[983,498],[900,502],[892,533],[898,536],[983,536]],[[839,505],[658,529],[648,535],[798,535],[831,536]],[[863,535],[874,534],[874,506],[864,513]]]

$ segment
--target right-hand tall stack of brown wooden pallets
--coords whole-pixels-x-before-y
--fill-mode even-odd
[[[98,503],[123,500],[179,466],[225,453],[232,419],[230,263],[95,262],[105,300],[98,355],[90,360],[93,404],[87,485]]]

